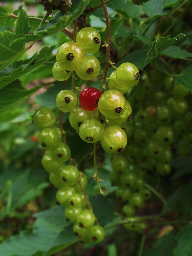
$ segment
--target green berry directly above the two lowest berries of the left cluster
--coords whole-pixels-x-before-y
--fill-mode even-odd
[[[95,215],[90,210],[83,210],[77,218],[79,227],[91,228],[95,222]]]

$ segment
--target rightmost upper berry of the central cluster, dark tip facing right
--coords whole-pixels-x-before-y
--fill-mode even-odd
[[[117,81],[125,87],[137,85],[139,76],[138,68],[130,62],[121,64],[116,70]]]

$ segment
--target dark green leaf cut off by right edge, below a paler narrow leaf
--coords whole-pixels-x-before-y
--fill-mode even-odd
[[[192,65],[184,69],[177,77],[176,81],[186,86],[192,92]]]

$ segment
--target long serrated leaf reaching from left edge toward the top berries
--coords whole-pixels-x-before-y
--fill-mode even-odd
[[[41,65],[48,61],[53,55],[52,50],[54,47],[48,48],[47,46],[43,47],[41,51],[35,54],[32,58],[25,60],[24,62],[16,62],[13,64],[13,68],[15,69],[10,72],[2,75],[0,77],[0,88],[3,88],[10,84],[11,82],[18,79],[20,76],[28,73],[31,70],[36,69],[37,67],[41,67]]]

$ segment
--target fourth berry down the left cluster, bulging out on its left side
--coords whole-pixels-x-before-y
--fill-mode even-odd
[[[58,171],[61,167],[61,162],[58,161],[57,157],[52,152],[44,154],[41,164],[49,173]]]

